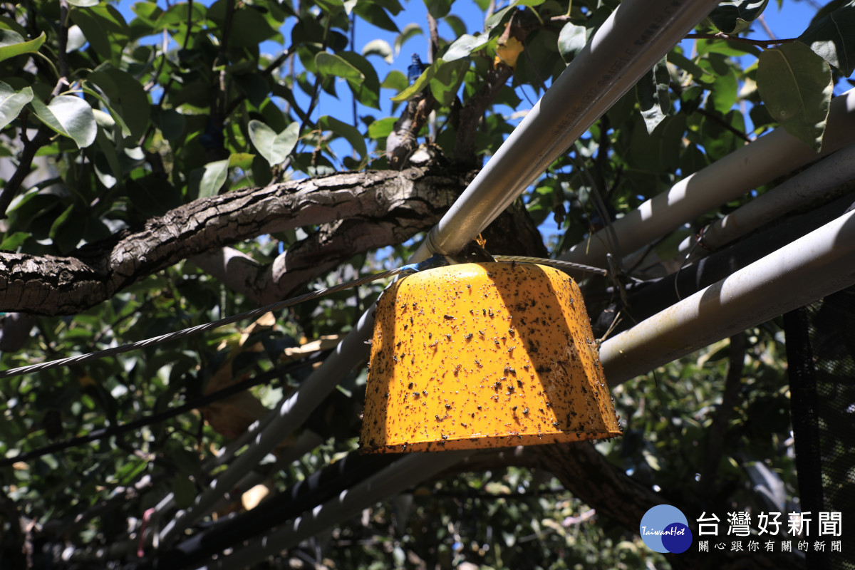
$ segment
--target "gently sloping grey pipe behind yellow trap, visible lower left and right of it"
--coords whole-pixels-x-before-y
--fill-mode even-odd
[[[612,386],[621,384],[749,326],[853,285],[853,260],[855,211],[606,341],[600,349],[606,377]],[[756,292],[760,288],[767,295],[758,301]],[[650,350],[651,346],[658,350]],[[205,568],[229,570],[274,555],[389,494],[451,467],[465,455],[454,451],[407,455],[339,499],[313,509],[292,525],[282,526],[232,555],[211,561]]]

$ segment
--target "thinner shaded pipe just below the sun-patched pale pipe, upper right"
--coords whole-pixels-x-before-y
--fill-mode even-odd
[[[855,179],[855,144],[850,144],[800,172],[762,196],[706,226],[697,236],[682,241],[678,251],[686,262],[705,257],[711,250],[769,223],[799,206],[823,197],[827,191]],[[690,253],[691,252],[691,253]]]

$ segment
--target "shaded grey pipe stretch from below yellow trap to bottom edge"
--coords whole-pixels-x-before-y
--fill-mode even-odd
[[[412,453],[382,469],[373,477],[342,492],[339,497],[319,505],[290,524],[280,526],[262,537],[251,540],[244,548],[231,555],[220,555],[203,566],[206,570],[243,568],[267,556],[298,544],[341,520],[361,513],[376,502],[398,494],[416,483],[432,477],[458,461],[463,461],[470,451],[439,451]]]

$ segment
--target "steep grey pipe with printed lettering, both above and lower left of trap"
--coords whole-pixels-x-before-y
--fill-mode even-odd
[[[451,206],[411,261],[432,253],[454,254],[481,232],[540,176],[575,139],[681,38],[703,20],[717,0],[628,0],[609,16],[534,109],[499,147],[486,167]],[[574,97],[575,94],[578,94]],[[249,449],[220,473],[191,508],[159,535],[168,543],[236,485],[286,433],[297,429],[341,376],[368,350],[374,307],[302,386],[286,398]]]

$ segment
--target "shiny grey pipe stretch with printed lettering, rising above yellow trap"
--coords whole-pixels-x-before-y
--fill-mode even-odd
[[[433,227],[416,255],[427,259],[462,250],[715,6],[715,0],[621,3]]]

